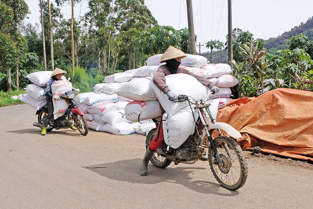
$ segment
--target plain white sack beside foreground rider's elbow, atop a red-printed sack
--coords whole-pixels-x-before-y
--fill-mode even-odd
[[[121,86],[116,93],[122,97],[136,101],[157,100],[150,77],[131,80]]]

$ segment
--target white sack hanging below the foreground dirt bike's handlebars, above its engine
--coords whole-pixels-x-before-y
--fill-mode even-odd
[[[164,141],[174,149],[182,145],[195,131],[196,126],[193,114],[196,121],[198,120],[199,114],[198,110],[194,109],[194,105],[191,107],[192,109],[189,106],[184,107],[172,116],[169,116],[168,113],[164,113],[162,116]]]

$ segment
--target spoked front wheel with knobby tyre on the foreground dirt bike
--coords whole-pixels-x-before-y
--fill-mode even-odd
[[[248,177],[248,164],[242,149],[226,136],[216,137],[213,142],[223,162],[219,165],[213,150],[209,149],[209,163],[214,177],[229,190],[239,189]]]

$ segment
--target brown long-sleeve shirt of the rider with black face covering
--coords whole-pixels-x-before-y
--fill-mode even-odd
[[[202,83],[204,86],[207,86],[208,88],[211,89],[212,86],[214,86],[214,84],[209,81],[208,79],[198,76],[196,74],[193,74],[192,72],[187,71],[186,69],[182,68],[182,67],[178,67],[178,71],[177,73],[185,73],[188,75],[191,75],[193,77],[195,77],[200,83]],[[176,73],[176,74],[177,74]],[[158,89],[160,89],[164,94],[167,91],[170,91],[170,89],[168,88],[168,86],[166,85],[166,79],[165,76],[172,74],[167,65],[161,65],[158,68],[158,71],[156,72],[156,74],[153,76],[153,83],[156,85],[156,87],[158,87]]]

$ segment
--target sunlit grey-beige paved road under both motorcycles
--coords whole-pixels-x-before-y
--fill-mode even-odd
[[[143,177],[144,136],[70,129],[41,136],[35,112],[0,108],[0,208],[312,208],[311,169],[249,158],[238,191],[221,187],[208,162],[149,164]]]

